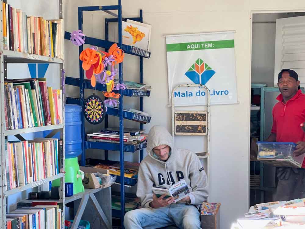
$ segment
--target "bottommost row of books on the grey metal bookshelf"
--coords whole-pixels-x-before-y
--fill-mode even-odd
[[[53,203],[53,202],[52,202]],[[51,203],[51,204],[52,204]],[[54,202],[56,203],[56,202]],[[49,202],[32,202],[6,214],[7,229],[62,229],[63,211]],[[17,205],[18,207],[18,205]]]

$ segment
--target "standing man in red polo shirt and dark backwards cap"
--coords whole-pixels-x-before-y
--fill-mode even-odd
[[[305,132],[300,124],[305,122],[305,94],[300,90],[298,74],[291,69],[282,69],[278,74],[281,94],[274,105],[273,125],[267,141],[294,142],[295,156],[305,153]],[[305,198],[305,162],[302,168],[280,167],[277,169],[278,185],[274,201]]]

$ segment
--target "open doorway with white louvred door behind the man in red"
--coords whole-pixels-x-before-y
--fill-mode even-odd
[[[251,18],[249,205],[253,206],[273,201],[276,189],[275,167],[257,161],[256,142],[271,133],[272,108],[279,94],[277,74],[291,68],[305,85],[305,12],[253,12]]]

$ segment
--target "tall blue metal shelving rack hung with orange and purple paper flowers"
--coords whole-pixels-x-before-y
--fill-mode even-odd
[[[117,10],[117,14],[113,13],[112,11],[109,10]],[[123,18],[122,17],[122,5],[121,5],[121,0],[118,0],[118,5],[106,5],[106,6],[82,6],[78,7],[78,29],[83,30],[83,12],[84,11],[104,11],[106,13],[109,13],[112,16],[115,16],[116,18],[111,18],[105,19],[105,40],[101,40],[98,38],[91,38],[87,37],[85,39],[85,44],[90,44],[90,45],[95,45],[98,47],[105,48],[106,51],[109,49],[109,47],[114,43],[110,42],[108,40],[108,29],[109,29],[109,23],[111,22],[117,22],[118,23],[118,46],[124,50],[126,54],[131,54],[135,56],[139,56],[140,61],[140,83],[143,83],[143,58],[149,58],[150,57],[150,52],[146,50],[139,49],[134,46],[129,46],[129,45],[123,45],[122,44],[122,20],[135,20],[139,22],[143,22],[143,15],[142,15],[142,10],[140,10],[140,16],[139,17],[133,17],[133,18]],[[65,32],[65,39],[70,40],[70,33]],[[83,51],[83,46],[79,46],[79,53]],[[125,56],[126,58],[126,56]],[[72,77],[66,77],[65,83],[69,85],[74,85],[78,86],[80,88],[80,98],[67,98],[66,103],[67,104],[78,104],[82,108],[84,108],[84,89],[95,89],[99,91],[105,91],[106,86],[97,84],[95,88],[93,88],[90,84],[90,81],[84,79],[84,70],[81,67],[82,63],[81,60],[79,61],[79,66],[80,66],[80,78],[72,78]],[[123,82],[123,63],[119,64],[119,82]],[[140,150],[140,161],[143,159],[143,149],[147,146],[146,142],[143,142],[141,144],[137,145],[127,145],[123,144],[123,133],[124,133],[124,118],[125,119],[130,119],[136,122],[140,122],[140,129],[143,129],[143,123],[148,123],[150,122],[150,118],[148,116],[143,116],[143,115],[137,115],[135,113],[129,112],[129,111],[124,111],[123,110],[123,95],[124,96],[136,96],[140,98],[140,111],[143,111],[143,96],[150,96],[149,91],[145,90],[131,90],[131,89],[126,89],[126,90],[119,90],[118,93],[121,94],[120,96],[120,107],[119,108],[112,108],[108,107],[108,111],[105,116],[105,127],[108,127],[108,115],[115,115],[119,117],[119,122],[120,122],[120,143],[107,143],[107,142],[89,142],[86,141],[86,133],[85,133],[85,127],[84,127],[84,115],[82,113],[82,125],[81,125],[81,134],[82,134],[82,155],[81,155],[81,165],[85,165],[85,150],[86,149],[102,149],[105,150],[105,160],[108,161],[108,151],[120,151],[120,184],[121,184],[121,211],[116,211],[115,216],[121,218],[121,224],[122,228],[124,228],[124,214],[125,214],[125,190],[124,190],[124,185],[123,184],[128,184],[128,182],[133,182],[133,184],[136,183],[136,181],[129,181],[124,179],[124,152],[135,152]],[[133,179],[135,180],[135,179]],[[118,214],[119,213],[119,214]]]

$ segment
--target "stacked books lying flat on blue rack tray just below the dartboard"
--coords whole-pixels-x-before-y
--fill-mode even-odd
[[[124,128],[124,144],[135,145],[146,140],[145,130]],[[120,128],[111,127],[99,132],[87,134],[87,140],[93,142],[120,142]]]

